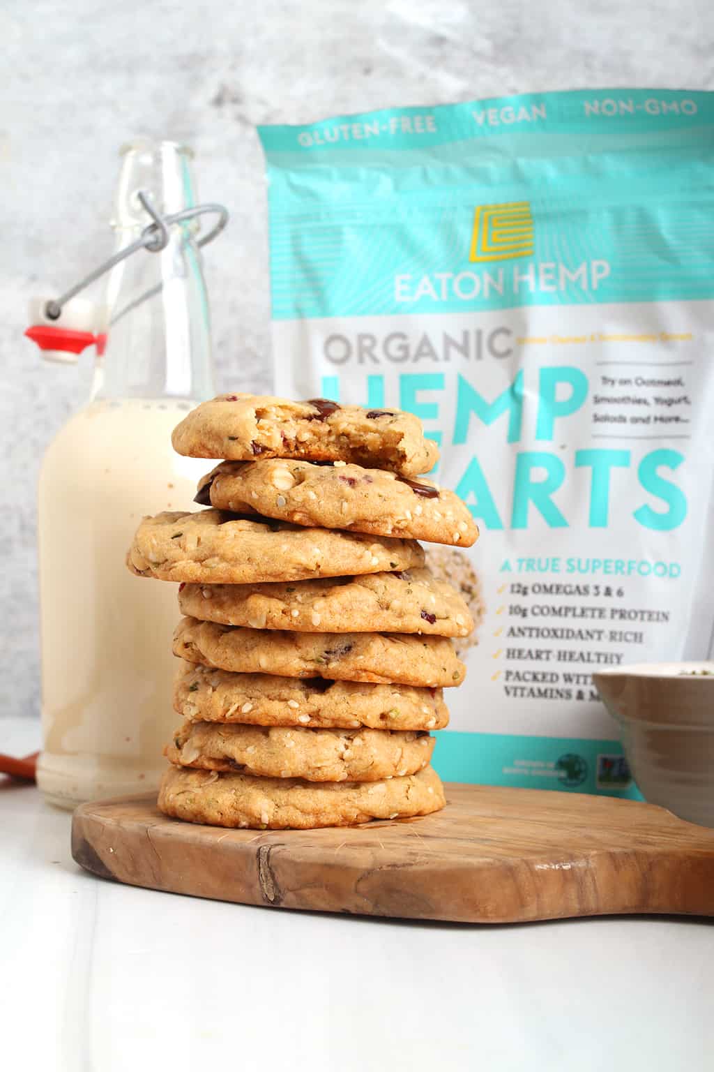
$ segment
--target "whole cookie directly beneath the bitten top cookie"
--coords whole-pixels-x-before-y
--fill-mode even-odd
[[[478,536],[471,511],[453,491],[345,462],[222,462],[199,481],[196,502],[297,525],[434,544],[471,547]]]

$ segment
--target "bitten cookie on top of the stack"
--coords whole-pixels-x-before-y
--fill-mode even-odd
[[[291,402],[259,394],[219,394],[177,426],[173,449],[189,458],[305,458],[428,473],[439,448],[422,422],[398,410],[365,410],[328,399]]]

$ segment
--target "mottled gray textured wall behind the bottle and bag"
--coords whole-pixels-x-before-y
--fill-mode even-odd
[[[0,10],[0,717],[39,711],[35,506],[76,370],[21,337],[33,294],[110,249],[117,149],[187,140],[231,211],[207,251],[219,384],[270,384],[258,122],[594,86],[714,88],[711,0],[3,0]],[[83,385],[82,385],[83,389]]]

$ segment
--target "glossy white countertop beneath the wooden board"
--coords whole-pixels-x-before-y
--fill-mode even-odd
[[[39,745],[0,719],[0,750]],[[0,776],[0,1067],[34,1072],[711,1070],[714,926],[414,924],[107,882]]]

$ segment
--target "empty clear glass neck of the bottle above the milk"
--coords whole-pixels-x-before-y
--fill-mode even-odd
[[[138,190],[164,214],[194,204],[183,152],[167,143],[130,147],[117,202],[119,249],[151,223],[137,202]],[[193,222],[173,224],[165,249],[138,250],[109,273],[107,341],[96,358],[92,398],[199,401],[215,393],[208,295],[195,234]]]

